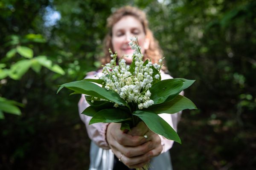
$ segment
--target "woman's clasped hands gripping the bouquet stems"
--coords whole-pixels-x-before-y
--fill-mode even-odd
[[[143,122],[132,128],[129,133],[120,130],[120,126],[120,123],[110,123],[106,138],[116,157],[121,158],[129,168],[143,167],[163,150],[160,137]],[[144,134],[148,136],[147,139],[143,137]]]

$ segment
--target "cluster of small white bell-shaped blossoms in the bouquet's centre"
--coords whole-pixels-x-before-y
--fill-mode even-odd
[[[115,91],[126,102],[134,102],[138,105],[139,109],[148,108],[154,104],[154,101],[150,99],[151,93],[148,90],[151,88],[151,83],[154,79],[160,78],[160,68],[162,60],[152,64],[149,61],[147,64],[143,62],[143,54],[140,52],[140,46],[137,38],[132,37],[129,45],[134,49],[133,60],[131,65],[125,64],[123,56],[119,59],[119,65],[116,65],[117,54],[111,53],[111,61],[103,66],[103,74],[100,79],[105,80],[105,88],[107,90]],[[144,65],[143,65],[144,64]],[[133,67],[133,68],[131,68]],[[157,74],[153,78],[153,68],[157,69]],[[117,104],[114,105],[118,107]]]

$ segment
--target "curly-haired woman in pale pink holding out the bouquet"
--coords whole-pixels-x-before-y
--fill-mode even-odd
[[[105,63],[111,59],[109,48],[116,51],[119,58],[128,55],[125,57],[126,63],[131,63],[133,50],[128,42],[133,36],[138,38],[144,59],[150,58],[154,63],[162,58],[157,41],[154,40],[153,34],[148,28],[145,13],[140,9],[131,6],[119,8],[108,18],[108,28],[109,33],[105,37]],[[89,73],[86,78],[93,78],[94,74],[100,76],[101,71]],[[163,72],[161,77],[162,79],[172,78]],[[79,101],[79,112],[81,113],[88,106],[84,96],[82,96]],[[177,130],[179,115],[180,113],[161,114],[160,116]],[[134,127],[131,132],[124,133],[120,130],[120,123],[96,123],[89,126],[91,117],[83,114],[80,114],[80,117],[87,127],[88,136],[92,140],[91,170],[117,170],[121,168],[125,170],[143,167],[148,162],[157,170],[172,169],[167,151],[172,147],[173,141],[152,132],[143,122]]]

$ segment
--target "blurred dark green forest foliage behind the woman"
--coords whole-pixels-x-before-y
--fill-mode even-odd
[[[183,111],[178,126],[183,144],[170,151],[174,169],[254,169],[254,0],[0,1],[0,66],[23,60],[20,54],[6,59],[8,51],[22,45],[66,73],[42,67],[18,80],[0,80],[0,96],[24,105],[21,116],[4,113],[0,119],[0,169],[88,169],[90,140],[78,115],[79,96],[56,95],[57,85],[96,70],[106,19],[123,5],[147,12],[171,75],[196,79],[185,96],[198,110]],[[61,18],[51,23],[54,11]]]

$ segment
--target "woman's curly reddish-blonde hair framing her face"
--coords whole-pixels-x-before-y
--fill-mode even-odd
[[[152,31],[148,28],[148,20],[146,17],[145,12],[140,10],[139,8],[132,7],[132,6],[124,6],[122,8],[117,9],[110,17],[107,19],[107,27],[109,29],[108,34],[106,35],[104,39],[104,53],[105,57],[102,60],[102,63],[108,63],[111,60],[110,54],[109,54],[109,48],[113,51],[112,46],[112,28],[113,26],[121,20],[124,16],[133,16],[137,20],[140,21],[140,23],[143,26],[143,31],[146,35],[146,37],[149,39],[149,48],[145,50],[144,54],[144,60],[151,59],[153,63],[158,62],[159,59],[162,58],[162,50],[160,49],[157,40],[155,40]]]

